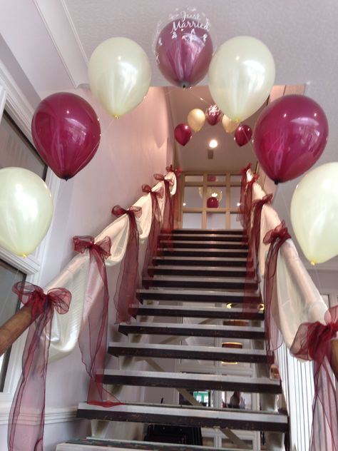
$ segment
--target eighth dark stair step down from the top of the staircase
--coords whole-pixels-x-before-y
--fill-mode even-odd
[[[175,290],[149,288],[137,290],[139,300],[178,300],[182,302],[203,302],[203,303],[242,303],[243,292],[238,291],[216,291],[216,290]],[[260,293],[250,293],[245,300],[250,303],[260,303]]]

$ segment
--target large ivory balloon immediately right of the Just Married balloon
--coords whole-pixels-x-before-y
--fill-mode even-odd
[[[212,57],[209,88],[217,106],[232,121],[243,121],[266,101],[275,81],[275,62],[259,39],[237,36]]]

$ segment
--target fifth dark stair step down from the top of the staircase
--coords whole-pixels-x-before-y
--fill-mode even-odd
[[[197,255],[191,256],[174,256],[174,255],[160,255],[153,258],[155,265],[188,265],[188,266],[222,266],[223,268],[237,268],[247,266],[247,258],[245,257],[198,257]]]

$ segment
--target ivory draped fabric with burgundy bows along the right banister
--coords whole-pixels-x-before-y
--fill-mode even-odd
[[[273,363],[274,351],[282,339],[292,355],[314,361],[310,451],[338,451],[337,395],[331,368],[331,340],[337,339],[338,307],[327,309],[297,254],[284,221],[280,221],[270,205],[272,195],[266,195],[255,181],[247,218],[245,196],[253,175],[250,166],[241,173],[239,218],[243,227],[247,227],[249,239],[248,260],[251,262],[247,270],[257,269],[257,280],[264,275],[262,298],[269,363]],[[249,275],[247,272],[247,280]],[[297,419],[291,417],[292,421]]]

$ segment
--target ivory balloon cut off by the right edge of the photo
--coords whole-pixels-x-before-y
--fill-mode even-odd
[[[324,263],[338,255],[338,163],[323,164],[298,183],[291,222],[309,262]]]

